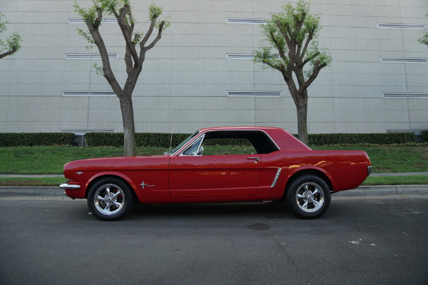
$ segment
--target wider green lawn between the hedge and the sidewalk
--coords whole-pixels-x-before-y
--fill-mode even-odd
[[[427,146],[314,147],[315,150],[364,150],[374,173],[427,172]],[[165,148],[138,148],[137,155],[162,155]],[[248,154],[250,147],[206,147],[205,155]],[[106,147],[0,147],[1,174],[62,174],[72,160],[123,155],[121,148]]]

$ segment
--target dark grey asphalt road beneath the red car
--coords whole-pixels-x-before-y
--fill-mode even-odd
[[[428,284],[428,199],[333,197],[320,219],[284,204],[136,205],[0,199],[0,284]]]

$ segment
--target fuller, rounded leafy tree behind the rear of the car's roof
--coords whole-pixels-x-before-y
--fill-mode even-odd
[[[284,11],[271,14],[262,25],[265,45],[254,52],[255,62],[264,63],[282,73],[297,108],[299,140],[307,143],[307,88],[322,68],[332,60],[328,51],[320,51],[317,36],[320,18],[309,14],[310,4],[298,1]],[[279,53],[279,56],[272,56]]]

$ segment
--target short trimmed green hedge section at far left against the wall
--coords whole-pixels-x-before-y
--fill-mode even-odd
[[[71,145],[73,133],[0,133],[0,147]]]

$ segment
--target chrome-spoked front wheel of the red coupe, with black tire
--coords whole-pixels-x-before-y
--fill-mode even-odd
[[[128,185],[114,177],[96,182],[88,192],[88,208],[98,219],[121,219],[132,207],[133,197]]]

